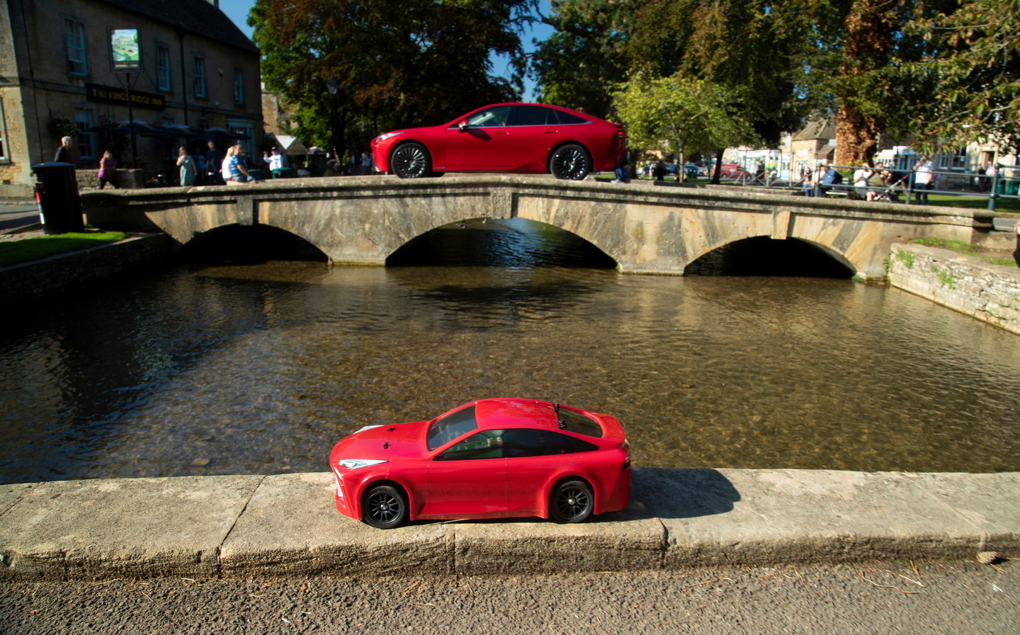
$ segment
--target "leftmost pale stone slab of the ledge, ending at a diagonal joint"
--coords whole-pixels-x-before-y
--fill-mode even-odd
[[[263,478],[30,484],[0,515],[0,580],[216,576],[219,545]]]

